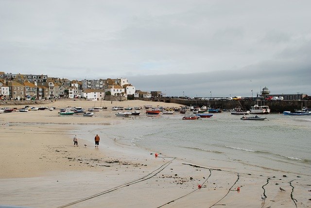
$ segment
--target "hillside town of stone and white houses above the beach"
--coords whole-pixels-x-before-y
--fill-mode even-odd
[[[126,78],[69,80],[39,74],[0,72],[0,100],[51,100],[85,98],[89,100],[133,100],[151,98],[128,82]],[[106,97],[105,97],[106,96]]]

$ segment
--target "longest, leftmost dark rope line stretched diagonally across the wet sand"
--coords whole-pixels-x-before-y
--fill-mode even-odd
[[[65,207],[68,207],[68,206],[71,206],[71,205],[74,205],[74,204],[77,204],[77,203],[80,203],[80,202],[84,202],[86,200],[89,200],[89,199],[92,199],[92,198],[95,198],[95,197],[98,197],[98,196],[101,196],[103,194],[106,194],[106,193],[109,193],[109,192],[112,192],[112,191],[116,191],[118,189],[121,189],[121,188],[124,188],[126,186],[130,186],[130,185],[133,185],[133,184],[136,184],[136,183],[139,183],[139,182],[142,182],[142,181],[145,181],[149,178],[152,178],[153,176],[155,176],[157,173],[160,173],[161,171],[163,171],[167,166],[169,166],[173,160],[176,158],[176,157],[167,157],[167,158],[172,158],[172,160],[164,163],[163,165],[161,165],[159,168],[155,169],[153,172],[145,175],[144,177],[141,177],[139,179],[136,179],[134,181],[131,181],[131,182],[128,182],[128,183],[125,183],[123,185],[120,185],[120,186],[117,186],[115,188],[112,188],[112,189],[109,189],[109,190],[106,190],[106,191],[103,191],[103,192],[100,192],[100,193],[97,193],[97,194],[94,194],[92,196],[89,196],[89,197],[86,197],[86,198],[83,198],[83,199],[80,199],[80,200],[77,200],[77,201],[74,201],[74,202],[71,202],[69,204],[66,204],[66,205],[63,205],[63,206],[60,206],[58,208],[65,208]]]

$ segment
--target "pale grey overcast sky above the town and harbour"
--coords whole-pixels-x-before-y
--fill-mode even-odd
[[[311,95],[310,0],[0,0],[0,71]]]

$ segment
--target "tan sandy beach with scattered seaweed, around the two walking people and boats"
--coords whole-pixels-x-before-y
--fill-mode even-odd
[[[124,101],[56,101],[45,106],[105,106],[91,118],[57,110],[0,114],[0,205],[57,207],[310,207],[311,181],[291,173],[258,173],[123,145],[113,135],[93,138],[98,125],[121,125],[113,106],[179,106]],[[42,105],[42,104],[41,104]],[[33,105],[33,106],[41,106]],[[1,106],[3,107],[3,106]],[[11,106],[21,108],[24,106]],[[144,110],[141,110],[142,112]],[[73,137],[78,137],[78,147]],[[279,185],[285,190],[279,190]],[[201,187],[201,188],[200,188]],[[267,198],[261,199],[264,194]]]

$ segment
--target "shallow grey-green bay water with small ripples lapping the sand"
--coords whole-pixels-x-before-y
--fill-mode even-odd
[[[100,134],[152,153],[196,164],[310,174],[311,116],[265,115],[265,121],[242,121],[229,112],[211,118],[182,120],[182,114],[122,119]]]

